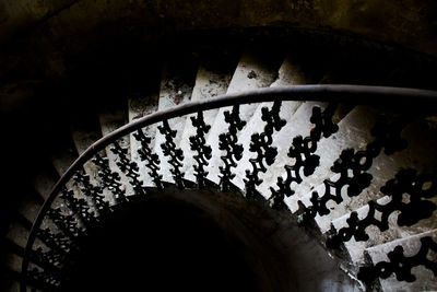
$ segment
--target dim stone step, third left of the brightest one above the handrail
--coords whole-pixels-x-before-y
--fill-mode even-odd
[[[154,112],[157,110],[157,103],[158,103],[158,94],[151,93],[150,96],[141,98],[141,97],[132,97],[129,98],[128,101],[128,110],[129,110],[129,122],[150,115]],[[151,138],[150,142],[150,148],[152,149],[153,145],[155,144],[155,135],[156,135],[156,125],[151,125],[145,128],[141,129],[145,136]],[[152,187],[154,184],[152,183],[152,178],[149,175],[149,171],[145,167],[145,162],[141,161],[140,154],[138,154],[138,150],[141,149],[141,143],[137,141],[137,139],[133,137],[133,133],[130,133],[130,153],[131,153],[131,159],[133,162],[137,163],[139,167],[139,174],[141,179],[143,182],[144,186]]]

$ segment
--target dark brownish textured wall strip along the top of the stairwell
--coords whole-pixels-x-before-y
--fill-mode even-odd
[[[433,0],[2,0],[0,42],[38,23],[33,37],[58,45],[111,25],[143,25],[153,33],[287,23],[342,30],[436,55],[436,12]]]

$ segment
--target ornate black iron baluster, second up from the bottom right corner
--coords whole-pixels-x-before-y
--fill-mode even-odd
[[[436,205],[429,200],[437,196],[437,177],[432,175],[416,175],[414,170],[400,171],[394,179],[389,180],[381,191],[390,197],[390,201],[379,205],[376,200],[369,201],[369,210],[364,219],[358,219],[352,212],[347,219],[347,227],[342,227],[327,241],[330,248],[339,248],[342,242],[352,237],[357,242],[369,238],[366,229],[377,226],[381,232],[389,229],[389,217],[399,211],[398,225],[411,226],[422,219],[430,218]],[[376,218],[378,213],[378,219]]]

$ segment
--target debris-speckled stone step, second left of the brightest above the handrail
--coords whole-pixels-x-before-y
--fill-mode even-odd
[[[172,108],[176,105],[181,105],[190,101],[192,89],[194,86],[197,61],[192,58],[193,56],[184,56],[175,59],[169,59],[163,67],[163,74],[161,79],[160,90],[160,102],[158,110]],[[182,131],[185,128],[186,116],[176,117],[168,120],[168,125],[172,130],[176,130],[176,137],[173,138],[173,142],[176,147],[179,145],[182,138]],[[162,122],[156,125],[157,127],[163,126]],[[153,152],[158,155],[160,174],[163,176],[162,180],[174,183],[170,170],[172,165],[168,163],[169,157],[164,155],[162,144],[165,143],[166,138],[164,135],[156,130],[155,144]]]

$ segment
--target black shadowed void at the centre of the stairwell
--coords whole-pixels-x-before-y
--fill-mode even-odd
[[[90,235],[66,291],[260,291],[241,243],[187,203],[128,205]]]

